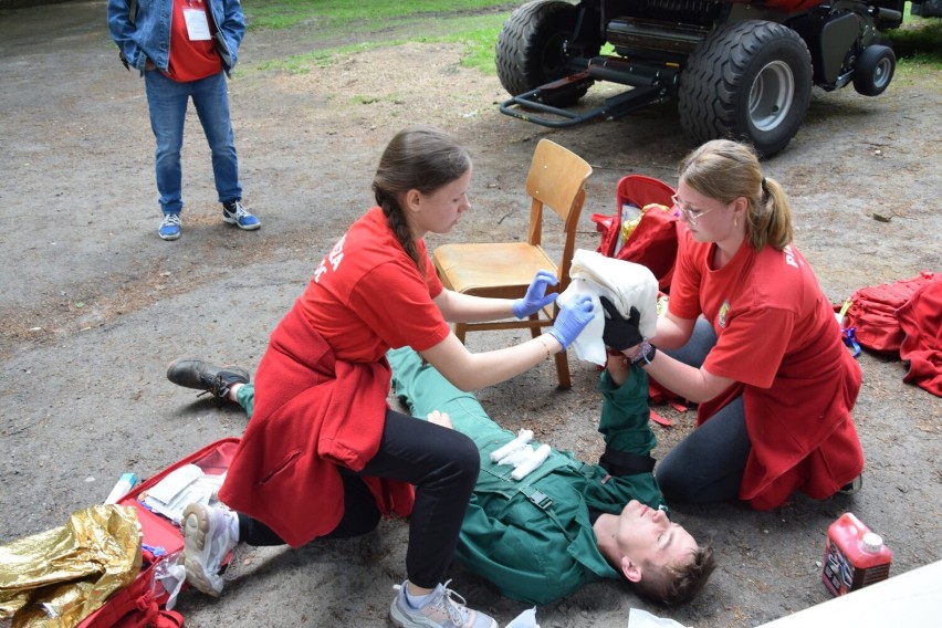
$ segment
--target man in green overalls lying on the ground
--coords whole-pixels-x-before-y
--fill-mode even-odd
[[[598,429],[606,449],[598,464],[552,449],[538,468],[517,481],[512,478],[513,465],[491,460],[491,453],[516,435],[496,425],[473,394],[452,386],[414,350],[394,349],[388,358],[394,389],[411,414],[453,427],[471,437],[481,452],[481,472],[456,559],[492,582],[502,595],[546,604],[588,583],[625,578],[640,595],[672,605],[702,588],[715,566],[713,552],[669,520],[651,473],[650,452],[657,440],[649,423],[643,370],[619,355],[609,358],[600,376]],[[181,359],[170,365],[167,377],[236,401],[252,416],[254,389],[245,369]],[[345,481],[355,479],[352,473]],[[357,516],[363,520],[358,525],[352,526],[347,517],[342,525],[364,533],[379,521],[378,512],[363,509]],[[240,523],[243,527],[241,519]],[[247,540],[241,527],[228,543],[188,538],[187,548],[205,554],[203,572],[218,569],[232,546]],[[254,531],[251,536],[260,535]],[[187,576],[197,588],[208,579],[206,573]]]

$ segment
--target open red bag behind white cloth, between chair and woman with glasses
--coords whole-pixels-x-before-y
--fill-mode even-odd
[[[615,191],[618,211],[614,216],[592,216],[600,234],[598,251],[647,266],[657,278],[661,292],[669,292],[677,258],[677,230],[681,223],[673,208],[674,190],[658,179],[643,175],[628,175],[618,181]],[[619,248],[622,227],[622,208],[632,206],[643,211],[631,234]],[[649,207],[650,206],[650,207]],[[661,206],[661,207],[657,207]],[[664,211],[667,209],[668,211]]]

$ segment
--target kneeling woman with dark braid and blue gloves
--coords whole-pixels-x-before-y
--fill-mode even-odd
[[[393,621],[496,628],[442,585],[478,479],[478,448],[387,406],[386,352],[409,346],[458,388],[478,389],[565,350],[592,320],[592,302],[564,305],[537,338],[468,352],[448,322],[522,318],[556,299],[546,294],[555,274],[544,271],[519,300],[442,286],[423,238],[450,231],[470,209],[471,171],[468,150],[437,128],[407,128],[386,147],[376,207],[334,245],[272,333],[252,422],[219,491],[228,507],[193,504],[184,514],[187,578],[200,590],[221,593],[219,566],[239,541],[297,547],[369,532],[395,513],[411,520]]]

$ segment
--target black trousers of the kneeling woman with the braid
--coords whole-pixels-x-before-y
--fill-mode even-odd
[[[379,451],[373,460],[359,473],[342,469],[344,515],[323,538],[358,536],[379,523],[376,500],[360,475],[414,484],[416,505],[409,524],[406,573],[416,586],[433,588],[451,563],[480,468],[478,448],[467,436],[387,409]],[[239,540],[249,545],[284,544],[265,524],[241,513]]]

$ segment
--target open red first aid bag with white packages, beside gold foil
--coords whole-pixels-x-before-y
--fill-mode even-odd
[[[182,505],[161,502],[166,498],[166,481],[169,479],[177,486],[184,483],[198,486],[202,482],[202,490],[209,492],[221,484],[238,446],[239,439],[234,437],[210,443],[118,500],[119,505],[137,510],[144,556],[140,573],[130,585],[116,592],[104,606],[86,617],[78,628],[177,628],[184,625],[179,613],[166,608],[170,590],[159,577],[176,563],[184,548],[179,522],[171,520],[182,512]],[[174,478],[181,480],[172,482]],[[176,496],[177,501],[198,499],[193,495],[181,490]],[[160,514],[161,511],[165,514]]]

